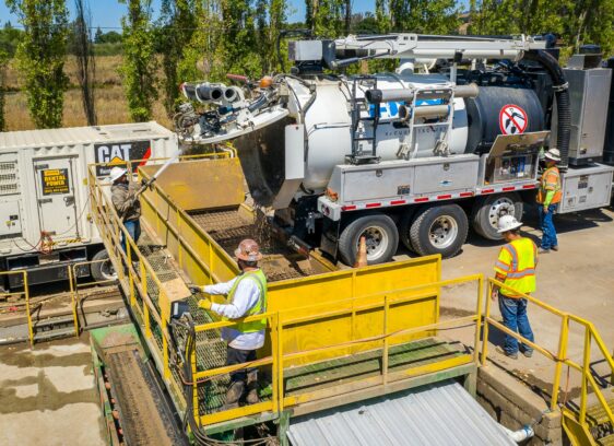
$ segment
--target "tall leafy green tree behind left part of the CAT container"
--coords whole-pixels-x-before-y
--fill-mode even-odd
[[[24,26],[17,66],[25,79],[29,114],[37,128],[60,127],[68,78],[68,11],[63,0],[7,0]]]

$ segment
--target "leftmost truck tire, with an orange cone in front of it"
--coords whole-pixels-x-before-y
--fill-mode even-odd
[[[361,236],[367,236],[367,262],[378,265],[389,261],[399,246],[399,231],[392,219],[385,214],[364,215],[352,221],[339,237],[341,260],[354,265]]]

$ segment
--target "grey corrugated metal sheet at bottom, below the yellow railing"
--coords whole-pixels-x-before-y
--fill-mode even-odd
[[[291,420],[293,446],[516,445],[456,382]]]

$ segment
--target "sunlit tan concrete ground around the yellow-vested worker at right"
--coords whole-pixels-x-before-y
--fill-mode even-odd
[[[541,231],[533,215],[524,216],[522,232],[539,246]],[[588,211],[578,214],[556,215],[560,250],[540,256],[536,272],[535,297],[560,310],[571,313],[594,324],[609,352],[614,349],[614,212],[612,209]],[[493,263],[503,243],[484,240],[470,233],[463,251],[442,261],[442,278],[482,273],[493,277]],[[475,313],[475,284],[456,285],[441,295],[442,317],[459,317]],[[551,352],[557,352],[562,319],[551,313],[529,306],[529,319],[538,344]],[[493,316],[500,318],[497,302],[493,304]],[[452,332],[450,332],[452,336]],[[467,344],[473,344],[473,329],[464,329],[457,336]],[[581,364],[585,330],[571,322],[567,357]],[[488,357],[499,366],[513,372],[519,378],[533,385],[536,390],[552,388],[554,363],[535,352],[533,357],[522,355],[511,360],[495,352],[501,343],[498,330],[492,330]],[[592,368],[604,379],[610,369],[595,343],[591,349]],[[564,367],[562,387],[568,388],[570,398],[577,395],[579,375],[571,371],[567,383],[567,367]]]

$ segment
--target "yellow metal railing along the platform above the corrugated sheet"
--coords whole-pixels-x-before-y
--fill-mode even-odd
[[[418,303],[422,300],[428,298],[433,294],[433,289],[441,289],[444,286],[453,286],[459,284],[475,283],[476,285],[476,307],[475,314],[467,317],[453,318],[434,324],[426,324],[412,327],[398,326],[397,329],[391,329],[390,321],[393,319],[395,312],[403,309],[420,308]],[[232,366],[222,366],[206,371],[197,371],[198,357],[196,354],[191,357],[191,368],[193,373],[193,384],[202,384],[215,377],[235,372],[237,369],[249,367],[271,366],[272,368],[272,383],[271,399],[262,401],[257,404],[240,407],[236,409],[221,410],[214,413],[200,415],[200,407],[198,398],[194,398],[193,410],[194,416],[203,425],[210,425],[228,420],[238,419],[241,416],[249,416],[256,413],[272,411],[281,412],[284,408],[290,408],[299,403],[306,403],[312,400],[326,398],[332,394],[339,392],[338,388],[329,388],[317,391],[310,391],[302,395],[286,395],[284,389],[284,369],[297,360],[310,359],[307,363],[321,361],[323,354],[326,357],[341,357],[347,355],[350,347],[366,347],[362,351],[381,349],[381,369],[379,376],[369,376],[359,378],[352,382],[354,389],[367,388],[378,385],[387,385],[393,380],[408,378],[411,376],[424,375],[451,368],[454,366],[479,363],[480,352],[480,326],[482,319],[483,308],[483,279],[481,274],[439,281],[436,283],[423,284],[418,286],[411,286],[402,290],[394,290],[391,292],[382,292],[373,295],[361,297],[352,297],[344,301],[335,302],[335,309],[329,309],[330,304],[316,304],[303,307],[304,312],[300,316],[293,316],[293,309],[268,312],[264,315],[251,316],[243,319],[244,321],[260,320],[263,317],[268,319],[269,334],[271,337],[271,352],[269,355],[261,357],[255,362],[246,364],[238,364]],[[286,342],[285,332],[292,326],[302,325],[306,330],[317,331],[324,320],[336,319],[344,316],[351,316],[355,313],[373,312],[374,309],[381,309],[380,322],[371,318],[371,324],[380,328],[379,331],[374,331],[368,337],[350,336],[345,342],[331,343],[311,349],[297,350],[293,342]],[[204,332],[209,330],[219,330],[224,327],[232,327],[237,324],[233,321],[216,321],[204,324],[196,327],[197,332]],[[473,353],[464,354],[454,357],[439,360],[432,364],[403,367],[393,374],[389,371],[389,354],[390,347],[401,342],[408,342],[412,339],[420,339],[432,337],[438,329],[450,329],[454,327],[467,327],[468,325],[474,326],[474,344]],[[194,391],[198,395],[198,391]]]

